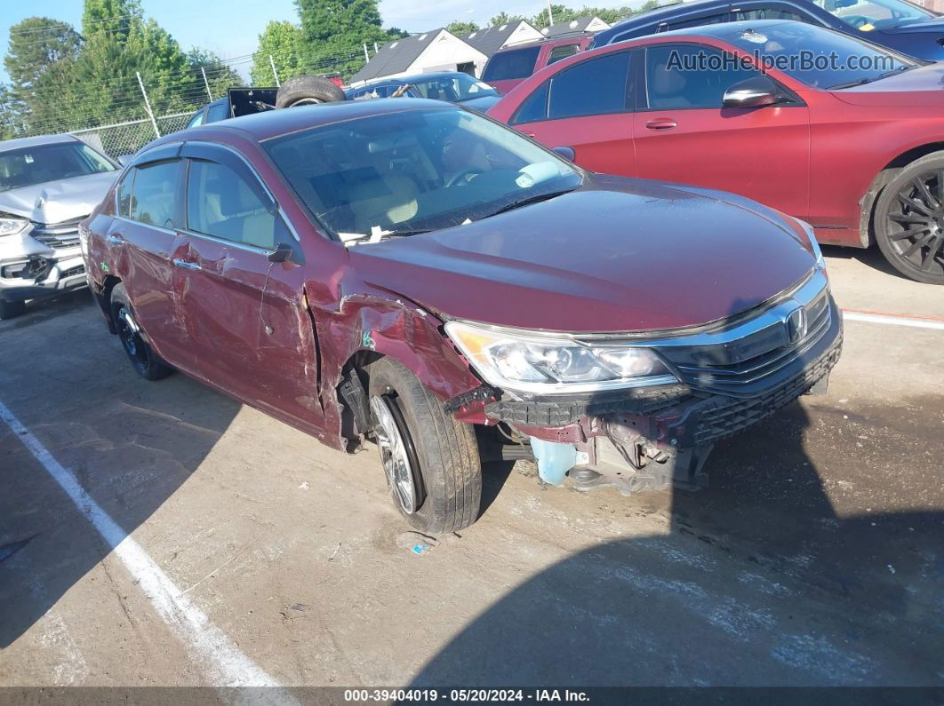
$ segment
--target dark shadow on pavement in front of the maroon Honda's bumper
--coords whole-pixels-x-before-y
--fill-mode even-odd
[[[842,411],[839,404],[829,419],[849,426]],[[705,489],[630,498],[595,491],[629,518],[615,529],[604,523],[609,534],[633,532],[639,517],[660,512],[665,531],[598,541],[532,575],[472,619],[410,685],[941,685],[944,513],[882,510],[894,474],[876,483],[854,464],[897,449],[853,440],[863,451],[830,451],[841,472],[825,475],[806,450],[811,434],[819,432],[804,404],[791,402],[716,443]],[[906,463],[900,453],[888,463]],[[838,512],[837,485],[867,480],[874,504]],[[540,521],[539,512],[533,517]],[[602,520],[581,525],[595,522]],[[709,694],[689,696],[680,702]],[[592,702],[630,697],[598,694]]]

